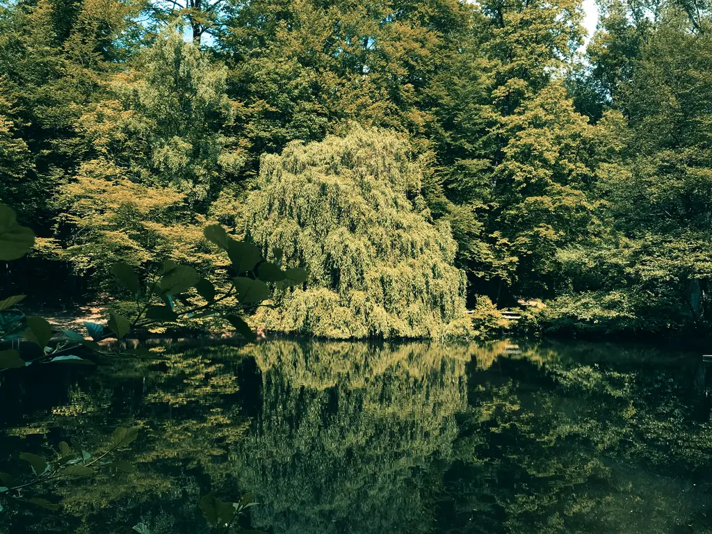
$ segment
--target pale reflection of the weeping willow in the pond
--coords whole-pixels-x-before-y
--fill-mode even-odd
[[[258,527],[432,530],[433,464],[465,407],[467,347],[271,342],[251,354],[261,407],[236,456]]]

